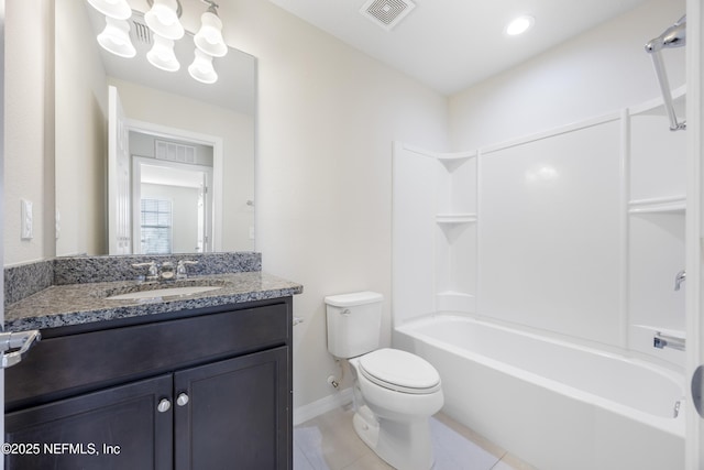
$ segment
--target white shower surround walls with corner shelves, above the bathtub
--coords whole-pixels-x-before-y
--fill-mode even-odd
[[[476,152],[396,143],[395,325],[460,313],[681,370],[652,347],[684,330],[685,134],[663,116],[653,100]]]

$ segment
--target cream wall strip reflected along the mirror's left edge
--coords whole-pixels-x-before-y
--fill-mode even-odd
[[[56,254],[108,252],[108,84],[82,1],[56,9]],[[52,117],[53,118],[53,117]],[[80,129],[80,132],[76,130]]]

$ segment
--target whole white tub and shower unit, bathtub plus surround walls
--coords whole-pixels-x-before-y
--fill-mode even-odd
[[[676,95],[683,95],[683,90]],[[657,100],[474,152],[394,147],[394,346],[541,470],[684,467],[684,133]],[[676,416],[675,416],[676,415]]]

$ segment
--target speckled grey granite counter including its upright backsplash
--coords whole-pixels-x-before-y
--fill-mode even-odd
[[[151,261],[176,265],[182,260],[198,263],[189,265],[188,278],[179,281],[141,282],[138,278],[145,274],[145,269],[133,266]],[[6,267],[6,330],[84,325],[302,293],[300,284],[261,270],[262,255],[255,252],[73,256]],[[107,298],[130,292],[184,286],[218,288],[142,300]]]

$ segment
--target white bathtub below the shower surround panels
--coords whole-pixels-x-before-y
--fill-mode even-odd
[[[394,346],[438,369],[444,413],[540,470],[684,468],[684,379],[668,369],[443,314]]]

